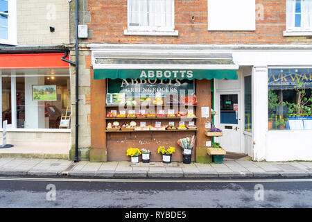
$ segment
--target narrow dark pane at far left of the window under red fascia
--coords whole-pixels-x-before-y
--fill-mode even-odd
[[[12,108],[11,108],[11,78],[2,78],[2,121],[7,120],[8,124],[12,124]]]

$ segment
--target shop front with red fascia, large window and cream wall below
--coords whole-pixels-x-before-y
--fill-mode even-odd
[[[63,51],[0,54],[0,128],[6,122],[8,143],[16,152],[44,157],[50,147],[55,157],[68,157],[71,130],[62,126],[62,117],[70,117],[71,99],[63,56]]]

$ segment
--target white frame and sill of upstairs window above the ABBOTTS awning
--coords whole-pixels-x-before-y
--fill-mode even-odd
[[[135,1],[135,0],[132,0]],[[123,31],[124,35],[178,35],[175,29],[175,0],[168,0],[172,3],[172,21],[171,27],[153,27],[153,26],[130,26],[130,1],[127,1],[127,26],[128,29]]]

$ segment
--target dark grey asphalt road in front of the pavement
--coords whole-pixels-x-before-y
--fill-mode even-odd
[[[312,178],[0,178],[0,207],[312,207]]]

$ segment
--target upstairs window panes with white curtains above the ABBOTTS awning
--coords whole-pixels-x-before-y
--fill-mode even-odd
[[[173,31],[174,0],[128,0],[128,30]]]

